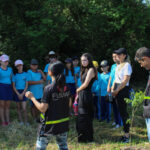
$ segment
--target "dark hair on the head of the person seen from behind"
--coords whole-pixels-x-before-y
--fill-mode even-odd
[[[49,66],[48,70],[50,70],[55,77],[55,81],[57,86],[62,89],[66,85],[66,80],[64,76],[64,65],[61,62],[53,63]]]

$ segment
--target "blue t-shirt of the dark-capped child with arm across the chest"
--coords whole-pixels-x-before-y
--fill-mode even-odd
[[[39,72],[33,72],[28,70],[29,81],[39,81],[42,80],[42,75]],[[29,90],[34,94],[36,99],[40,99],[43,96],[43,84],[29,85]]]

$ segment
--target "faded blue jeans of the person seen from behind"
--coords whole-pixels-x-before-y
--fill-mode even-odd
[[[54,135],[56,137],[56,142],[59,150],[68,150],[67,146],[67,132]],[[36,150],[46,150],[49,138],[51,136],[38,137],[36,142]]]

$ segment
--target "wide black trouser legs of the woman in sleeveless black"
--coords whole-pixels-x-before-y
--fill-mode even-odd
[[[78,132],[78,142],[93,141],[93,118],[88,114],[79,114],[76,128]]]

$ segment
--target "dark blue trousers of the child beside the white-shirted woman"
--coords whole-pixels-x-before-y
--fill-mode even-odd
[[[113,107],[113,113],[114,113],[114,121],[116,124],[122,126],[123,122],[120,116],[120,112],[118,110],[117,104],[116,104],[116,100],[113,99],[113,103],[112,103],[112,107]]]

